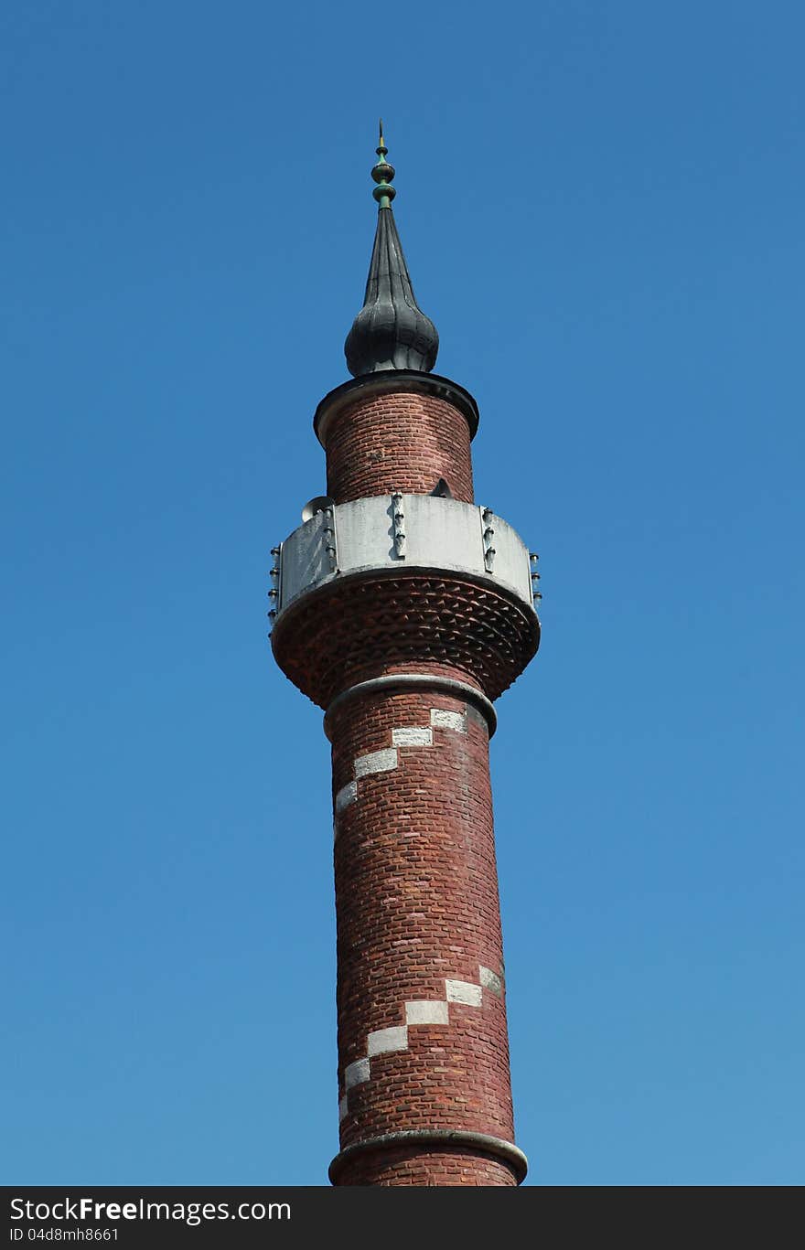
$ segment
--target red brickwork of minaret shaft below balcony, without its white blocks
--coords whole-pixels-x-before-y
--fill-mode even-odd
[[[370,1031],[405,1024],[409,1000],[446,998],[445,979],[502,974],[486,722],[435,691],[370,694],[331,719],[334,795],[358,756],[391,746],[394,728],[430,726],[430,709],[466,715],[432,746],[398,749],[398,768],[358,781],[336,814],[339,1080]],[[348,1094],[341,1146],[406,1129],[514,1140],[504,998],[449,1004],[449,1024],[411,1025],[408,1049],[370,1060]],[[340,1184],[512,1184],[505,1164],[456,1150],[360,1156]],[[371,1178],[375,1179],[370,1179]],[[362,1179],[361,1179],[362,1178]],[[419,1179],[418,1179],[419,1178]]]

